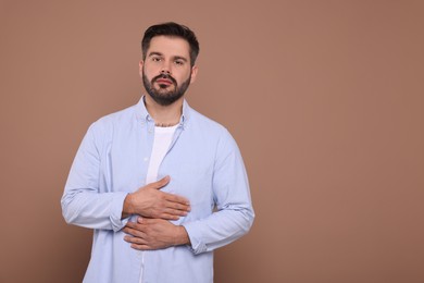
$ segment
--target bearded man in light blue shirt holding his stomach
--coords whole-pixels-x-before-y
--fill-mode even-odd
[[[89,127],[63,217],[95,231],[84,282],[213,282],[213,250],[254,218],[242,159],[229,133],[184,99],[198,73],[195,34],[153,25],[141,47],[147,95]]]

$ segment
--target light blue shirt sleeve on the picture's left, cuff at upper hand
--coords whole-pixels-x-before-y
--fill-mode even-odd
[[[62,213],[70,224],[116,232],[128,221],[122,219],[127,193],[99,190],[104,143],[99,132],[91,125],[79,146],[61,199]]]

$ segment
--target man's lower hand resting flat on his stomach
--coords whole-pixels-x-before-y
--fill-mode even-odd
[[[123,231],[129,234],[124,239],[132,244],[132,248],[139,250],[190,244],[184,226],[163,219],[138,218],[137,222],[128,222]]]

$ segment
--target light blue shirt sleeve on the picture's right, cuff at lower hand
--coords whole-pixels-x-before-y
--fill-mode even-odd
[[[213,172],[216,211],[210,217],[184,223],[194,254],[211,251],[245,235],[254,211],[240,151],[227,133],[220,140]]]

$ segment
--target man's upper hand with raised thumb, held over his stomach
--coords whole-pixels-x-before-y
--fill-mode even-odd
[[[122,217],[139,214],[148,218],[177,220],[179,217],[187,216],[190,205],[186,198],[160,190],[167,183],[170,183],[170,176],[128,194],[124,200]]]

